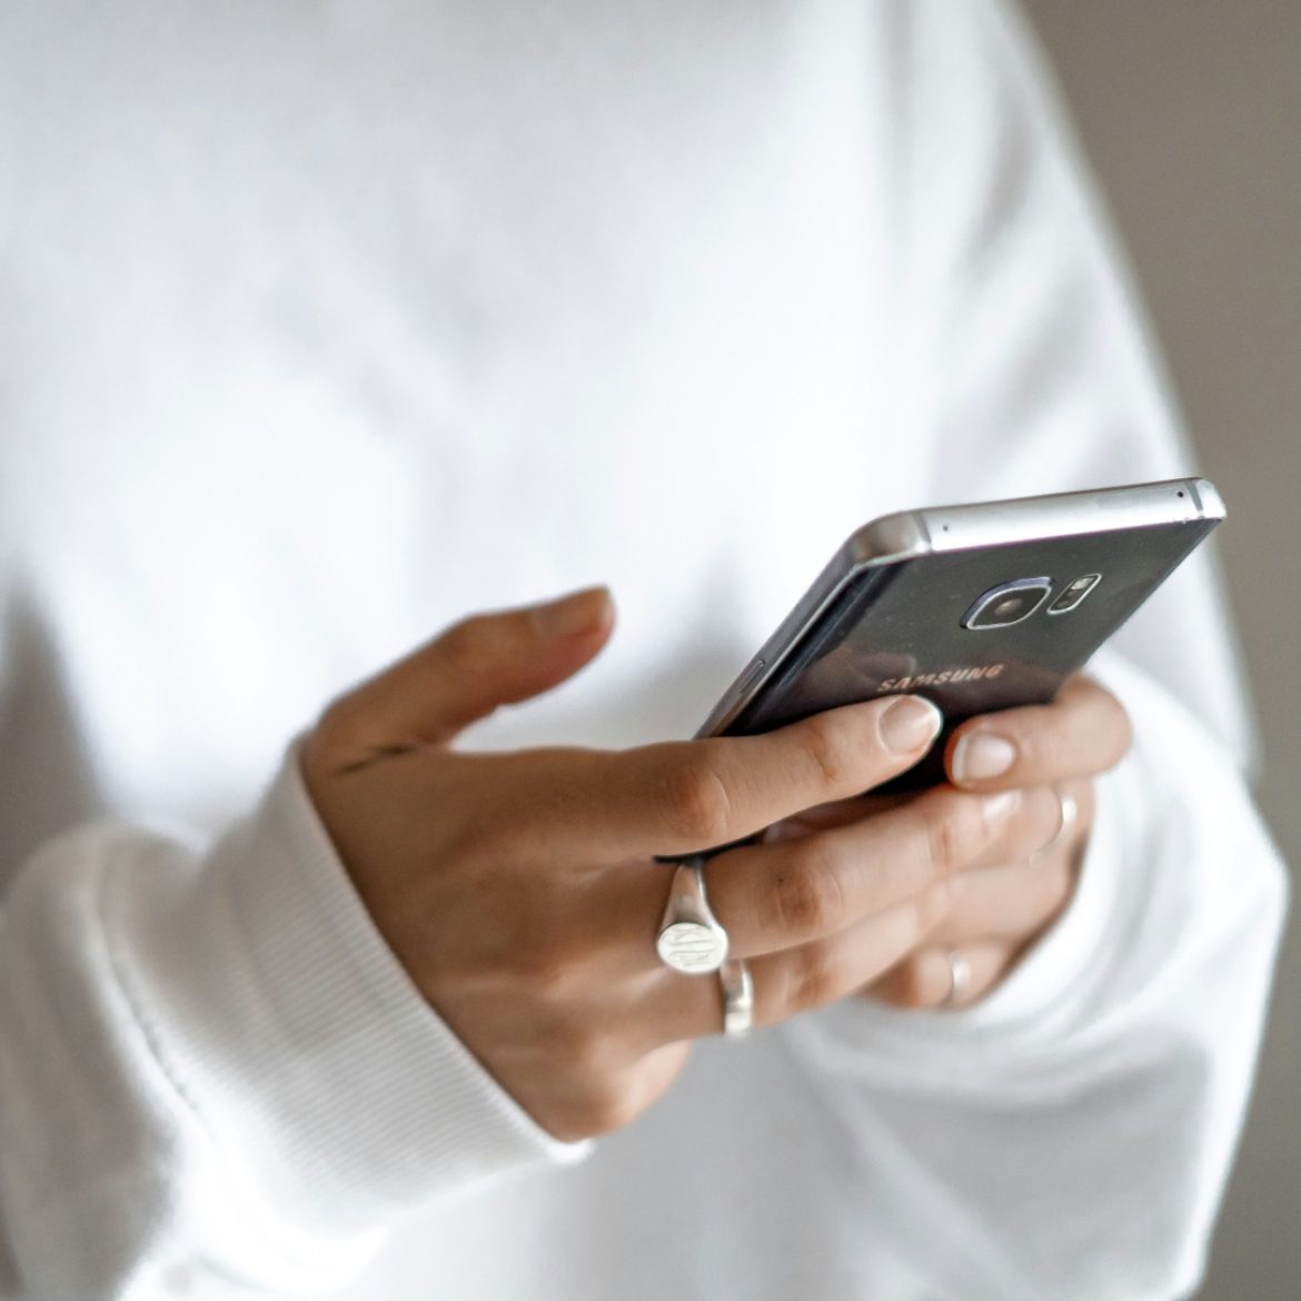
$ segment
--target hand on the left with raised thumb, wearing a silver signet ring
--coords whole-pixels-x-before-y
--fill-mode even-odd
[[[684,855],[751,837],[909,768],[938,712],[908,696],[761,736],[501,755],[451,742],[546,691],[609,637],[604,588],[479,615],[337,700],[307,736],[307,790],[371,917],[429,1004],[559,1138],[627,1124],[717,1034],[716,977],[661,964]],[[1024,857],[1051,788],[941,787],[848,826],[709,860],[710,905],[771,1024],[872,984],[946,915],[968,868]]]

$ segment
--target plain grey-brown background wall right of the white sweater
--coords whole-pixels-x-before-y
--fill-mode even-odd
[[[1222,488],[1261,804],[1301,863],[1301,0],[1025,0]],[[1201,1301],[1301,1297],[1301,899]],[[1099,1298],[1101,1301],[1101,1298]]]

